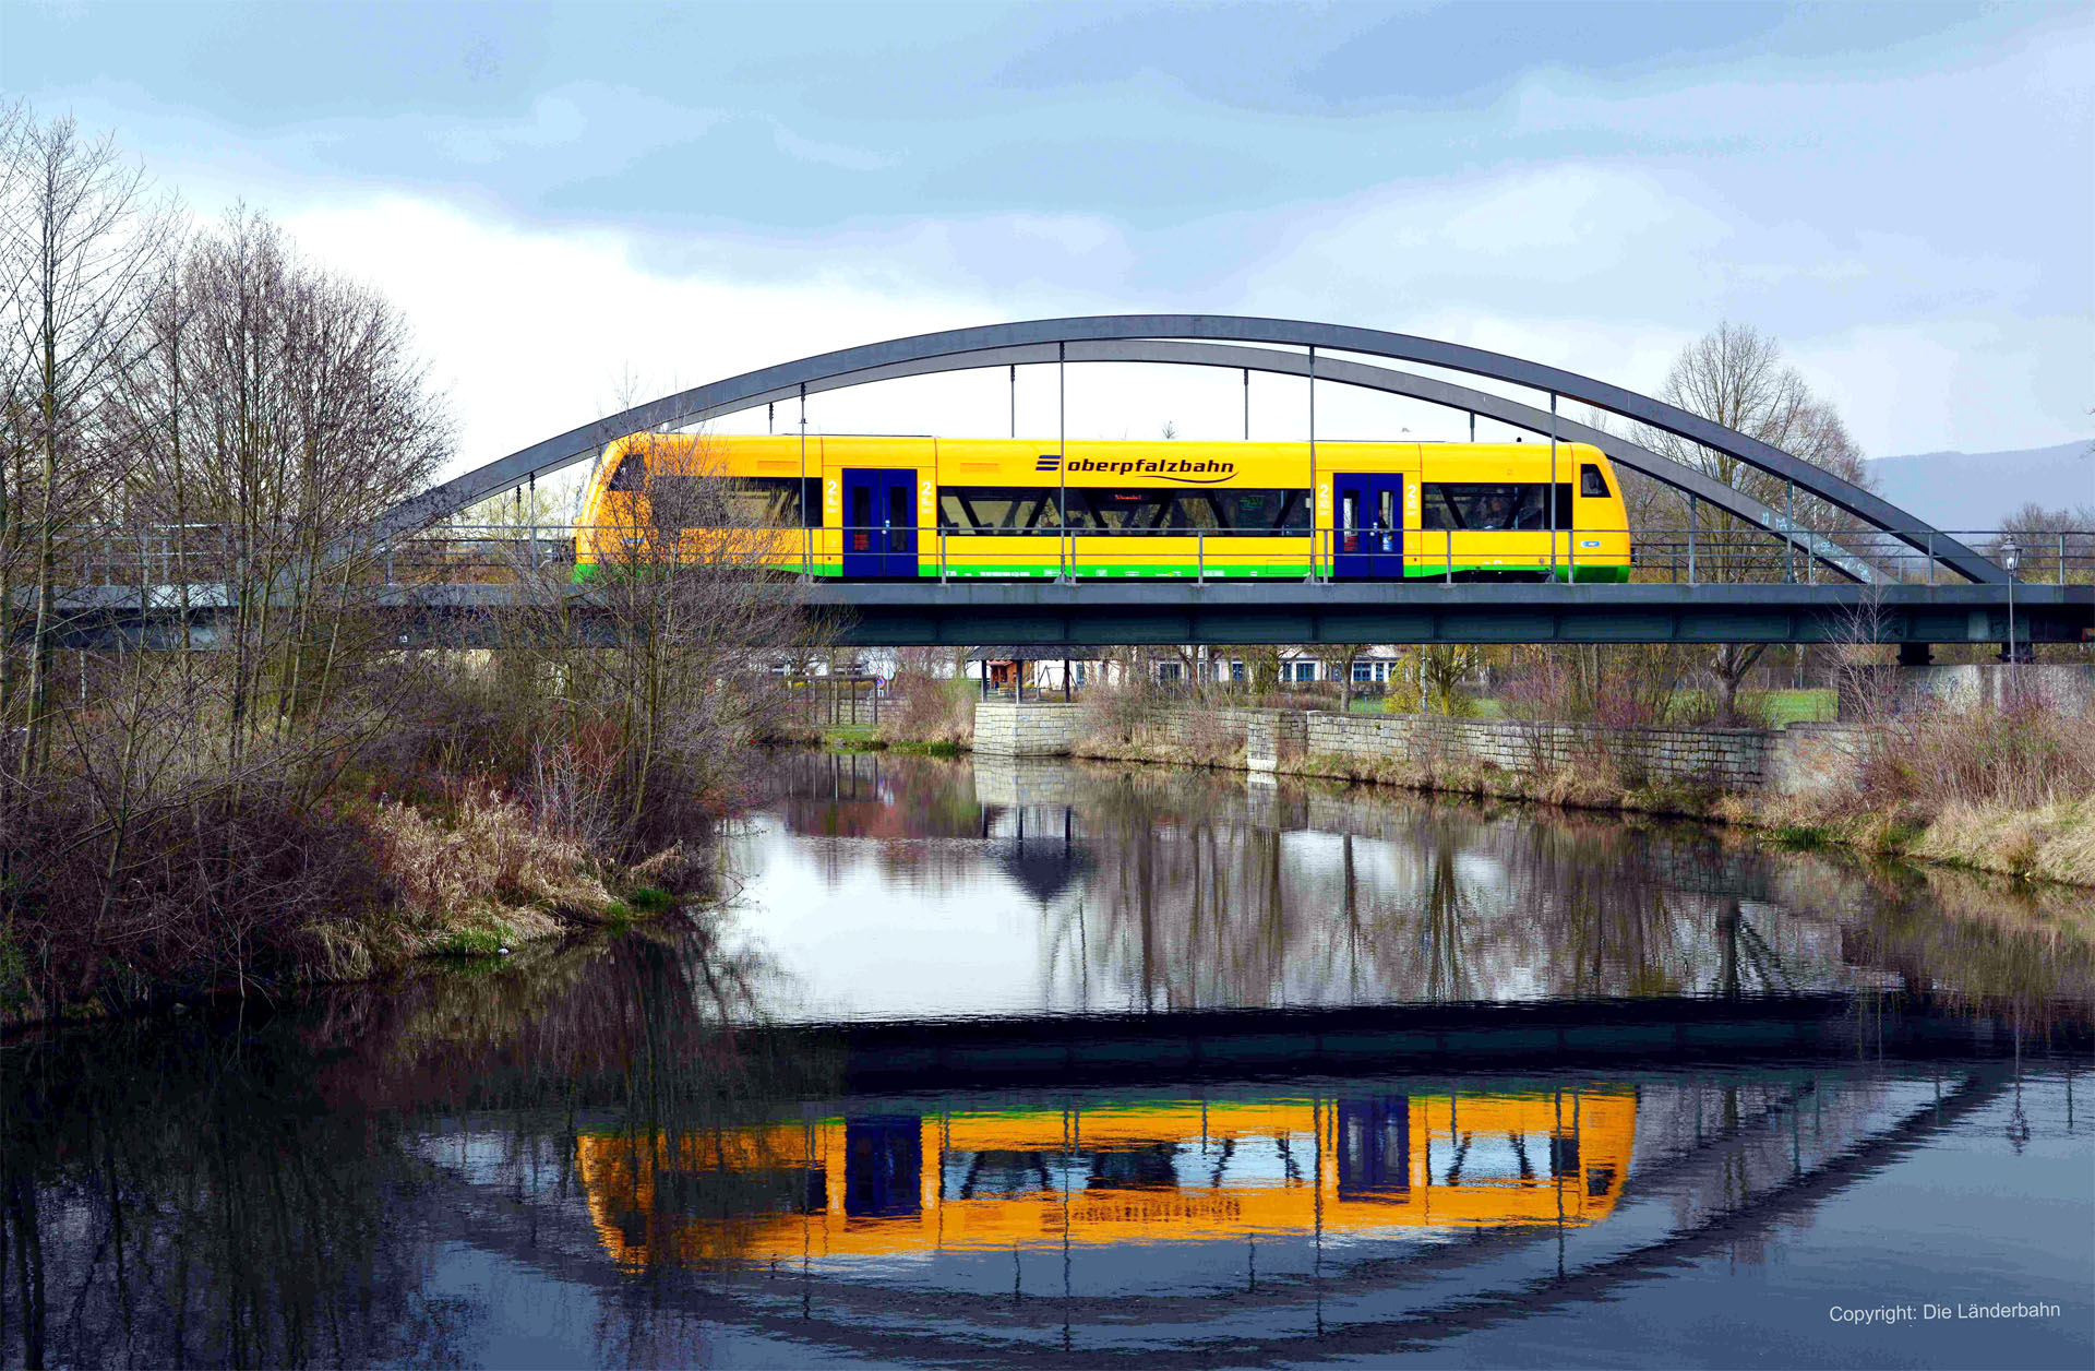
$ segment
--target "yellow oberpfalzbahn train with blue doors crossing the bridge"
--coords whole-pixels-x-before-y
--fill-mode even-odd
[[[637,558],[668,482],[727,478],[742,547],[882,579],[1628,581],[1622,484],[1580,442],[1071,442],[633,434],[576,579]],[[1552,497],[1554,467],[1554,497]],[[1554,507],[1552,507],[1554,505]],[[689,553],[685,553],[689,556]]]

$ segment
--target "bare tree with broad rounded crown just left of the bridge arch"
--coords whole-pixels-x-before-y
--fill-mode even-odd
[[[132,369],[132,505],[226,587],[226,744],[323,717],[367,587],[356,530],[421,488],[450,421],[398,312],[251,212],[184,254]],[[191,566],[197,562],[199,566]]]

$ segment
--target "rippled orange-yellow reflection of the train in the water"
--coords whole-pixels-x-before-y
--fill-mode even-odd
[[[1598,1088],[595,1134],[578,1163],[605,1249],[645,1266],[1592,1224],[1634,1140],[1634,1094]]]

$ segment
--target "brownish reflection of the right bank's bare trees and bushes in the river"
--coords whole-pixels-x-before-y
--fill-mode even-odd
[[[1999,924],[2030,895],[1992,883],[1944,920],[1944,874],[1701,826],[1288,782],[1247,797],[1159,767],[1029,763],[1022,784],[1066,811],[980,803],[966,765],[934,759],[786,771],[796,843],[828,880],[876,870],[945,897],[993,872],[1039,912],[1050,998],[1079,1006],[1745,996],[1848,987],[1856,962],[1915,989],[2095,998],[2085,933]],[[853,832],[869,841],[825,836]]]

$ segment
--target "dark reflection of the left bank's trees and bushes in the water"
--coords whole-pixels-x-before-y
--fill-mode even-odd
[[[746,1166],[750,1122],[836,1084],[834,1063],[748,1046],[765,975],[664,931],[321,994],[260,1027],[8,1046],[0,1365],[457,1363],[486,1310],[425,1293],[463,1220],[421,1155],[461,1113],[497,1195],[578,1203],[585,1128],[635,1153],[679,1138],[660,1222],[719,1218],[731,1247],[777,1199]],[[645,1308],[624,1312],[605,1346],[654,1346]]]

